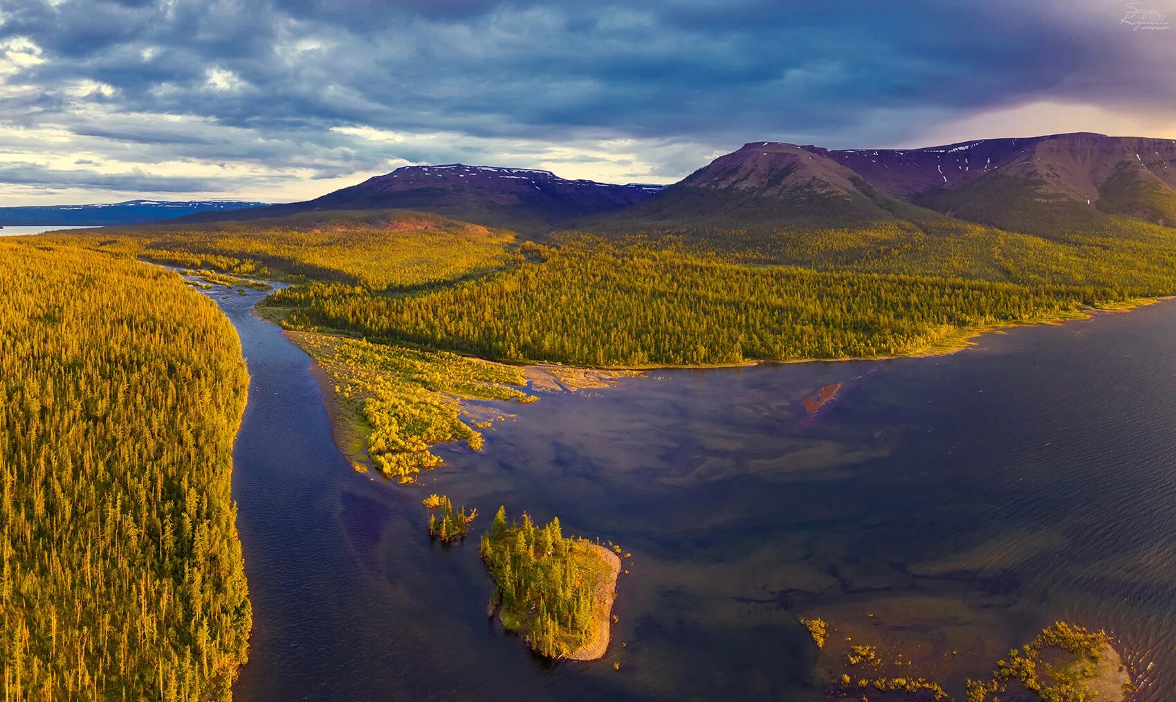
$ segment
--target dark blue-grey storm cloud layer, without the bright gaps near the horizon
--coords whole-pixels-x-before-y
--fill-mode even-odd
[[[0,13],[0,39],[28,38],[42,59],[19,73],[40,92],[0,119],[156,158],[301,159],[321,177],[488,148],[330,131],[347,125],[516,153],[573,138],[869,146],[1030,101],[1176,106],[1176,29],[1134,32],[1117,0],[9,0]],[[65,97],[81,80],[113,88],[86,98],[107,112]],[[111,111],[234,131],[127,131]]]

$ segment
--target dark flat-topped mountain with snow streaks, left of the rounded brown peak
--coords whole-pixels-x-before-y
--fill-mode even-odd
[[[567,180],[550,171],[493,166],[405,166],[303,203],[272,205],[194,220],[281,217],[328,210],[403,208],[541,234],[580,218],[620,210],[657,185]]]

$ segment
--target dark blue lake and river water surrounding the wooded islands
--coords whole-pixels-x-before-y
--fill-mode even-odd
[[[252,376],[239,700],[820,698],[829,662],[797,615],[900,641],[953,693],[1080,621],[1155,664],[1141,698],[1176,696],[1176,303],[949,357],[549,395],[403,488],[334,449],[308,358],[250,312],[260,294],[219,290]],[[488,621],[476,539],[429,542],[430,491],[632,551],[606,660],[546,663]]]

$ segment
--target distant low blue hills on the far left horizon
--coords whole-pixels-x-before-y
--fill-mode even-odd
[[[28,207],[0,207],[0,225],[115,225],[142,224],[160,219],[174,219],[200,212],[230,212],[245,207],[256,207],[263,203],[238,200],[127,200],[100,205],[48,205]]]

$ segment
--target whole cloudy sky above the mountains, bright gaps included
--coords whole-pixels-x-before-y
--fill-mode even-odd
[[[0,205],[289,201],[445,163],[673,183],[764,140],[1176,138],[1169,16],[1176,0],[2,0]]]

